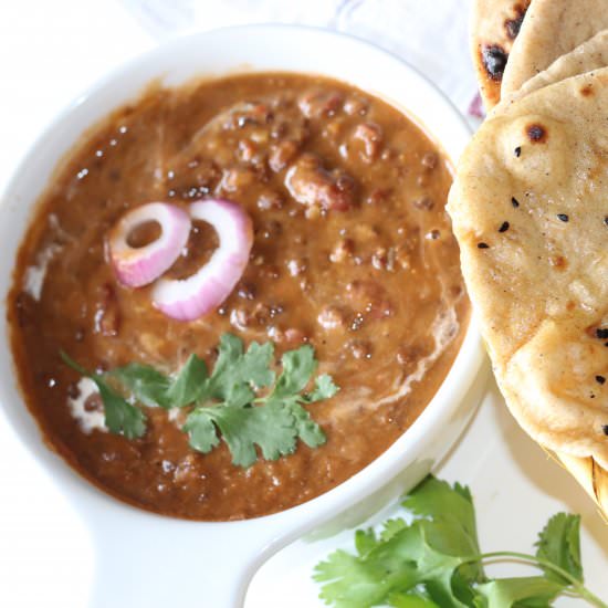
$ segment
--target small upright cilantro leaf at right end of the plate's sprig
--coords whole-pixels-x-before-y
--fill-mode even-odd
[[[538,535],[536,557],[555,564],[583,583],[580,564],[580,515],[557,513]],[[568,581],[557,573],[544,568],[545,576],[557,583]]]

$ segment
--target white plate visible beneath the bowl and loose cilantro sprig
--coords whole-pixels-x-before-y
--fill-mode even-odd
[[[470,428],[436,474],[470,485],[483,552],[534,554],[533,543],[548,517],[559,511],[580,513],[581,554],[587,587],[608,600],[608,525],[574,479],[549,460],[516,424],[493,379]],[[395,503],[369,520],[378,524],[399,513]],[[312,572],[332,551],[353,549],[353,531],[326,539],[301,539],[272,557],[253,578],[245,608],[321,608]],[[502,564],[495,576],[533,576],[530,567]],[[583,606],[562,598],[555,606]]]

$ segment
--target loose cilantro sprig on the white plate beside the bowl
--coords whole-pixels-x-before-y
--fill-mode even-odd
[[[608,608],[583,578],[580,517],[558,513],[536,555],[481,553],[468,488],[427,478],[401,503],[403,517],[355,533],[355,554],[336,551],[315,567],[321,598],[335,608],[548,608],[560,595]],[[488,560],[517,559],[542,574],[489,578]]]

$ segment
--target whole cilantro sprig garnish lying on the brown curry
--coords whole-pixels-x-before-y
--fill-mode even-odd
[[[318,365],[312,346],[285,353],[276,377],[273,343],[253,342],[245,352],[243,342],[231,334],[220,338],[212,374],[197,355],[175,376],[137,363],[98,374],[65,353],[61,356],[96,384],[111,432],[143,437],[146,415],[140,406],[187,408],[182,430],[190,445],[208,453],[223,439],[232,462],[244,468],[256,462],[258,448],[264,459],[276,460],[293,453],[298,440],[311,448],[325,443],[325,433],[305,406],[338,390],[331,376],[321,375],[305,392]]]

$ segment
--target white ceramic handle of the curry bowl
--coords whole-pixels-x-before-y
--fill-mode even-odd
[[[106,513],[92,522],[96,565],[90,608],[242,608],[256,569],[302,532],[283,514],[207,523],[120,511],[120,518]]]

